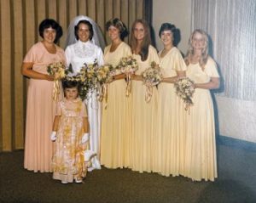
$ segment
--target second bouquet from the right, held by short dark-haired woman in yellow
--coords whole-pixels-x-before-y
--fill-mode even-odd
[[[151,63],[151,67],[143,71],[142,76],[143,84],[146,86],[145,100],[149,102],[153,94],[153,87],[160,83],[163,76],[154,61]]]

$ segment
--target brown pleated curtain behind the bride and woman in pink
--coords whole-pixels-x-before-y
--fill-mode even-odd
[[[60,23],[64,35],[59,45],[64,48],[67,26],[79,14],[96,20],[106,36],[104,25],[109,19],[118,17],[131,28],[136,19],[151,23],[151,10],[152,0],[1,0],[0,151],[24,148],[27,79],[20,75],[20,65],[27,50],[40,40],[42,20]]]

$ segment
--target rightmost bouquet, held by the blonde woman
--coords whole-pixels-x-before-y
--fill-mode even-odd
[[[195,93],[194,82],[189,77],[183,77],[174,83],[174,87],[176,88],[177,96],[183,99],[185,110],[189,110],[189,106],[193,104],[192,97]]]

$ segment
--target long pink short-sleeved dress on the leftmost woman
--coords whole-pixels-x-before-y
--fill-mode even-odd
[[[43,42],[32,46],[23,60],[33,63],[32,70],[47,73],[47,65],[62,61],[66,63],[64,51],[56,47],[55,54],[49,54]],[[55,116],[55,101],[52,99],[54,82],[30,79],[26,103],[26,138],[24,167],[34,172],[51,172],[53,144],[49,134]],[[60,95],[61,97],[61,95]]]

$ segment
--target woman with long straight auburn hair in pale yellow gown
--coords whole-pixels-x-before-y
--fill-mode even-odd
[[[137,59],[139,69],[132,77],[131,85],[131,169],[138,172],[152,172],[152,144],[155,136],[157,91],[154,87],[149,103],[145,101],[146,87],[142,72],[151,62],[159,65],[156,49],[150,44],[150,30],[145,20],[135,20],[131,30],[131,51]]]

